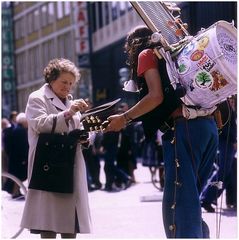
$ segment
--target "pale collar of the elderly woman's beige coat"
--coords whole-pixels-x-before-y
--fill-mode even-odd
[[[49,84],[44,84],[43,85],[43,91],[44,95],[46,96],[47,99],[50,99],[52,104],[60,109],[60,110],[66,110],[67,108],[70,107],[70,100],[67,98],[66,99],[66,104],[64,104],[57,96],[56,94],[50,89]]]

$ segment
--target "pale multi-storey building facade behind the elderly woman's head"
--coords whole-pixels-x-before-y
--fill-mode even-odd
[[[85,54],[86,44],[80,46],[82,39],[79,36],[79,24],[84,16],[79,17],[79,9],[77,2],[13,3],[19,111],[24,111],[29,94],[44,83],[43,69],[49,60],[62,57],[77,64],[79,55]],[[87,19],[86,3],[81,7],[81,14]],[[88,30],[87,26],[84,28]],[[87,82],[84,83],[87,96],[92,85],[89,68],[82,68],[81,74],[81,83],[74,91],[76,97],[79,97],[82,83]]]

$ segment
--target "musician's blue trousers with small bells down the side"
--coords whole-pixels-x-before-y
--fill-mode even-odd
[[[209,118],[176,120],[175,131],[164,134],[162,205],[168,238],[209,237],[199,195],[215,161],[217,147],[216,123]]]

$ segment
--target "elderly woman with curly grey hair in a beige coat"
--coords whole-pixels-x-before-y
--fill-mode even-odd
[[[72,100],[69,95],[80,74],[67,59],[53,59],[44,69],[46,83],[30,94],[26,106],[29,136],[28,179],[32,176],[39,133],[50,132],[57,117],[55,132],[80,129],[80,111],[87,109],[83,99]],[[41,238],[76,238],[77,233],[91,232],[86,168],[82,145],[77,144],[74,164],[73,193],[54,193],[30,189],[27,193],[21,226]]]

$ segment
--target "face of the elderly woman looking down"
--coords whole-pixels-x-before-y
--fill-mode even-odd
[[[61,99],[65,99],[75,83],[72,73],[62,72],[60,76],[50,83],[53,92]]]

